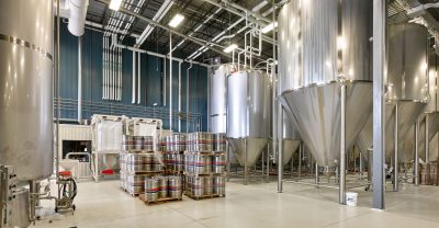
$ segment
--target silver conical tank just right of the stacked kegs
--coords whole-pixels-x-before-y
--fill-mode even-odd
[[[271,132],[271,79],[247,70],[227,78],[227,140],[241,166],[256,163]]]

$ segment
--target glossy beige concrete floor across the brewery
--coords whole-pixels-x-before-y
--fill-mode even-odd
[[[402,185],[386,193],[386,210],[371,207],[371,193],[359,193],[357,207],[337,203],[337,190],[277,182],[227,183],[227,197],[145,205],[122,192],[119,181],[78,184],[75,215],[53,214],[53,202],[43,202],[43,220],[35,227],[439,227],[439,187]],[[391,187],[387,187],[389,190]]]

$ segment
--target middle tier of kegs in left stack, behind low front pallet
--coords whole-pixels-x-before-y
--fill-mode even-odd
[[[126,173],[161,172],[165,164],[161,155],[154,152],[121,153],[121,171]]]

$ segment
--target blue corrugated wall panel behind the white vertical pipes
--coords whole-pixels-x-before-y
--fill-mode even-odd
[[[161,58],[142,54],[140,69],[140,104],[132,104],[132,70],[133,53],[124,49],[122,53],[122,87],[123,94],[121,102],[102,100],[102,42],[103,34],[97,31],[86,30],[82,36],[82,117],[90,118],[93,114],[117,114],[132,116],[150,115],[147,110],[159,110],[165,128],[169,127],[169,60],[166,62],[166,106],[162,102],[162,77],[164,60]],[[181,110],[187,111],[187,69],[188,62],[181,67]],[[178,111],[178,76],[179,64],[172,61],[172,110]],[[199,116],[191,121],[190,132],[207,130],[207,69],[193,65],[190,70],[190,110],[193,116]],[[78,37],[72,36],[67,24],[60,27],[60,96],[61,96],[61,118],[77,118],[77,99],[78,99]],[[130,110],[124,113],[124,109]],[[145,110],[145,112],[144,112]],[[148,114],[149,113],[149,114]],[[154,112],[157,113],[156,111]],[[175,113],[176,114],[176,113]],[[137,116],[133,116],[137,117]],[[178,130],[178,118],[173,117],[172,128]],[[187,129],[187,121],[182,119],[182,132]]]

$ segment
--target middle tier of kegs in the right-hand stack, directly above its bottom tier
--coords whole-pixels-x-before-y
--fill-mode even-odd
[[[184,153],[184,171],[193,174],[224,173],[227,164],[225,153]]]

